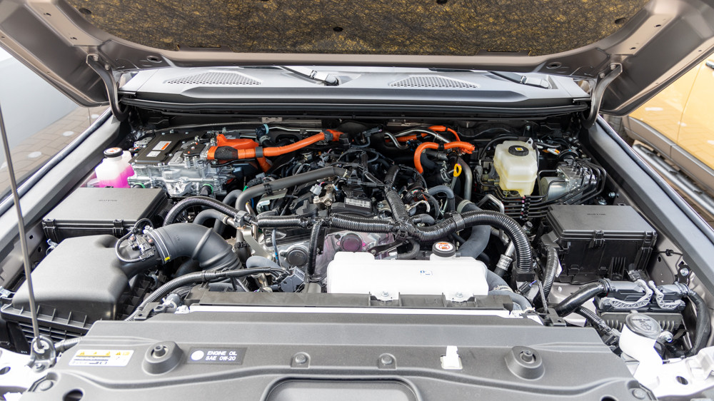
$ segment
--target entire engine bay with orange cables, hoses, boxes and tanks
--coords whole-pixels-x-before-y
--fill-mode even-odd
[[[641,315],[660,360],[708,338],[681,253],[658,248],[570,118],[128,131],[42,220],[34,294],[54,342],[100,320],[301,306],[592,326],[618,355]],[[28,289],[10,290],[8,345],[27,352]]]

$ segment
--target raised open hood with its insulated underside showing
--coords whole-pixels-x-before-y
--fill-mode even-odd
[[[0,45],[84,106],[144,68],[413,66],[586,78],[623,115],[710,54],[714,4],[0,0]]]

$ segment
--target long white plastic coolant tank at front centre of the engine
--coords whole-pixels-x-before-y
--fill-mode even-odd
[[[396,300],[399,294],[443,294],[463,302],[488,295],[486,265],[474,258],[376,260],[371,253],[338,252],[327,268],[327,292],[369,293],[378,300]]]

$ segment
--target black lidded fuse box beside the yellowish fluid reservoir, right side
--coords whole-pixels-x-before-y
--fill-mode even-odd
[[[657,240],[655,229],[625,205],[553,205],[546,219],[552,231],[542,241],[558,248],[560,283],[627,280],[628,271],[645,269]]]

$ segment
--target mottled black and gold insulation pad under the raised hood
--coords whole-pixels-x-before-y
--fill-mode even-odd
[[[69,0],[91,24],[162,50],[532,56],[614,34],[648,0]]]

